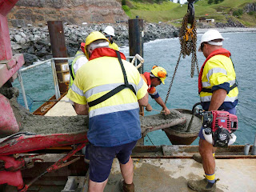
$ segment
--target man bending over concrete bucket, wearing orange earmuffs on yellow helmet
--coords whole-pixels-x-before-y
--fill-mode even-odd
[[[147,91],[150,94],[151,98],[154,98],[154,100],[158,102],[160,106],[162,106],[162,109],[165,114],[170,114],[170,110],[166,107],[166,104],[162,101],[162,98],[160,97],[158,91],[155,88],[156,86],[159,86],[161,83],[165,84],[165,79],[168,76],[166,70],[161,66],[153,66],[151,73],[145,72],[141,75],[148,86]],[[152,106],[148,104],[146,106],[146,110],[151,111]]]

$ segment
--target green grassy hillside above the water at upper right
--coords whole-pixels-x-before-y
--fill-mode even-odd
[[[174,26],[180,25],[179,22],[186,14],[187,5],[164,1],[139,1],[126,0],[126,6],[122,6],[130,18],[143,18],[146,22],[169,22]],[[245,26],[256,26],[256,13],[242,13],[247,3],[256,0],[224,0],[218,4],[208,4],[208,0],[199,0],[194,4],[196,19],[214,18],[215,22],[226,22],[227,18],[232,18],[241,22]]]

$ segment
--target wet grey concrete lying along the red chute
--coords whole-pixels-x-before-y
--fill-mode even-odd
[[[2,93],[10,98],[10,105],[14,110],[15,118],[19,125],[19,132],[30,132],[35,134],[62,134],[78,133],[88,130],[88,116],[39,116],[31,114],[17,102],[18,90],[16,88],[1,89]],[[170,110],[169,115],[154,114],[140,117],[142,127],[156,127],[170,125],[177,119],[184,117],[178,110]],[[185,125],[183,125],[185,126]],[[183,127],[177,126],[177,127]],[[176,127],[176,126],[175,126]],[[6,135],[1,135],[5,137]]]

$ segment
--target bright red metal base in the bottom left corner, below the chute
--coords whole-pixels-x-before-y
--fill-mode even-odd
[[[19,168],[25,165],[24,159],[22,161],[20,159],[15,159],[13,157],[8,156],[0,156],[0,160],[5,162],[5,169],[12,169]],[[24,182],[22,179],[22,172],[21,170],[17,171],[0,171],[0,185],[8,184],[10,186],[17,186],[18,190],[22,190],[24,186]]]

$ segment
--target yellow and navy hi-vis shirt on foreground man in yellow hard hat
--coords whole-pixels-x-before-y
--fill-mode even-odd
[[[104,49],[114,51],[109,48]],[[94,54],[97,54],[97,51]],[[130,62],[125,60],[122,62],[128,82],[134,86],[137,95],[130,89],[124,89],[106,101],[90,107],[88,139],[96,146],[118,146],[141,137],[138,99],[144,97],[146,83]],[[122,84],[124,84],[124,76],[118,58],[107,56],[94,58],[82,66],[76,74],[74,85],[80,94],[76,94],[78,99],[74,102],[86,104],[81,103],[82,99],[79,100],[81,95],[86,97],[86,102],[92,102]]]

